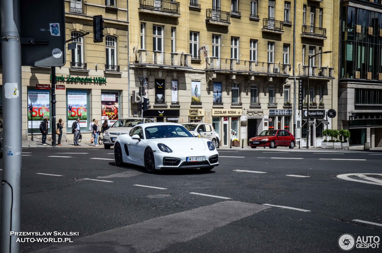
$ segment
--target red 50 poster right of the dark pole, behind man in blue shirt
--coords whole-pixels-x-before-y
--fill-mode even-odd
[[[86,91],[68,91],[68,128],[71,128],[76,118],[79,118],[80,127],[89,127],[87,126]]]

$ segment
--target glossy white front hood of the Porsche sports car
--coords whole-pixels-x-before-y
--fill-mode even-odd
[[[181,138],[161,138],[151,139],[155,143],[163,143],[172,151],[202,151],[207,149],[207,143],[201,138],[181,137]]]

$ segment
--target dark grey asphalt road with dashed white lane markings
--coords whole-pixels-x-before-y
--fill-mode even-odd
[[[50,236],[73,243],[24,242],[21,252],[342,252],[344,233],[382,238],[382,153],[257,148],[219,156],[210,172],[147,174],[117,167],[113,149],[24,148],[21,231],[78,235]],[[379,243],[350,252],[380,252]]]

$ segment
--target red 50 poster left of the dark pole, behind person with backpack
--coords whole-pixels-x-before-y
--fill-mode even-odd
[[[39,129],[44,117],[49,117],[50,122],[49,110],[49,91],[28,90],[28,128]]]

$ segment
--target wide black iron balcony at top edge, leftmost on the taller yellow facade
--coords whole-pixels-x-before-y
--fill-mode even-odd
[[[180,17],[180,3],[168,0],[139,0],[139,12],[173,18]]]

